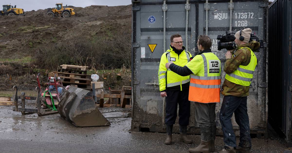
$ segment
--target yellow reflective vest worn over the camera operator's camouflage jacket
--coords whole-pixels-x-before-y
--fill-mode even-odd
[[[250,48],[247,49],[251,51],[251,61],[249,62],[249,64],[247,66],[239,65],[233,73],[225,75],[225,79],[243,86],[251,85],[251,81],[253,80],[253,72],[257,65],[257,59],[255,54]]]

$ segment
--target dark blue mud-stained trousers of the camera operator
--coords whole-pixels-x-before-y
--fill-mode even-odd
[[[231,117],[234,112],[235,121],[240,129],[239,146],[251,148],[251,136],[246,102],[247,96],[224,96],[223,98],[219,118],[224,136],[223,141],[227,146],[236,147],[236,138],[231,122]]]

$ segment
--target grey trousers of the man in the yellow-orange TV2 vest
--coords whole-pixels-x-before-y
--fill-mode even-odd
[[[194,102],[196,107],[196,121],[200,128],[210,128],[215,126],[216,115],[215,107],[216,103],[198,103]]]

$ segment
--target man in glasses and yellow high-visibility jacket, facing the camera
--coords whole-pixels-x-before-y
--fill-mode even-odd
[[[190,119],[190,101],[188,100],[190,75],[180,76],[165,67],[168,62],[185,66],[192,55],[185,50],[183,39],[179,34],[171,36],[170,48],[161,56],[158,79],[161,97],[166,97],[166,133],[165,144],[172,142],[172,128],[177,117],[177,106],[179,104],[180,140],[185,143],[192,143],[187,137],[187,125]]]

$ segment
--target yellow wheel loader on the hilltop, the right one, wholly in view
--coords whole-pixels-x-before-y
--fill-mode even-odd
[[[56,7],[53,9],[48,9],[47,15],[49,17],[70,17],[72,15],[75,15],[73,8],[68,8],[67,5],[63,7],[62,3],[57,3]]]

